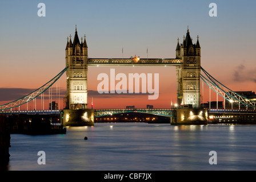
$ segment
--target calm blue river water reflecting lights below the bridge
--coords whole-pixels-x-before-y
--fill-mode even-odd
[[[11,134],[9,170],[256,170],[255,138],[256,125],[95,123],[66,134]]]

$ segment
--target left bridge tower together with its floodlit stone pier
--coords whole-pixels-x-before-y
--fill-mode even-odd
[[[67,38],[66,44],[66,71],[67,91],[63,125],[90,126],[94,125],[93,110],[87,109],[87,65],[88,47],[86,36],[79,41],[77,26],[73,42]]]

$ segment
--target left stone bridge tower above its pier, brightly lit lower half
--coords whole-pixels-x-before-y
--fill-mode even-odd
[[[75,28],[73,43],[70,35],[66,46],[66,67],[69,67],[66,71],[66,109],[87,109],[87,53],[85,36],[80,43]]]

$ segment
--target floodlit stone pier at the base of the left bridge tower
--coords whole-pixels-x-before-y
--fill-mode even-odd
[[[94,126],[93,109],[63,110],[62,126]]]

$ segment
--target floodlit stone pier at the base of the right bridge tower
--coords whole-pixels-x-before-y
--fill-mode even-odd
[[[207,125],[207,109],[177,109],[176,118],[171,118],[171,125]]]

